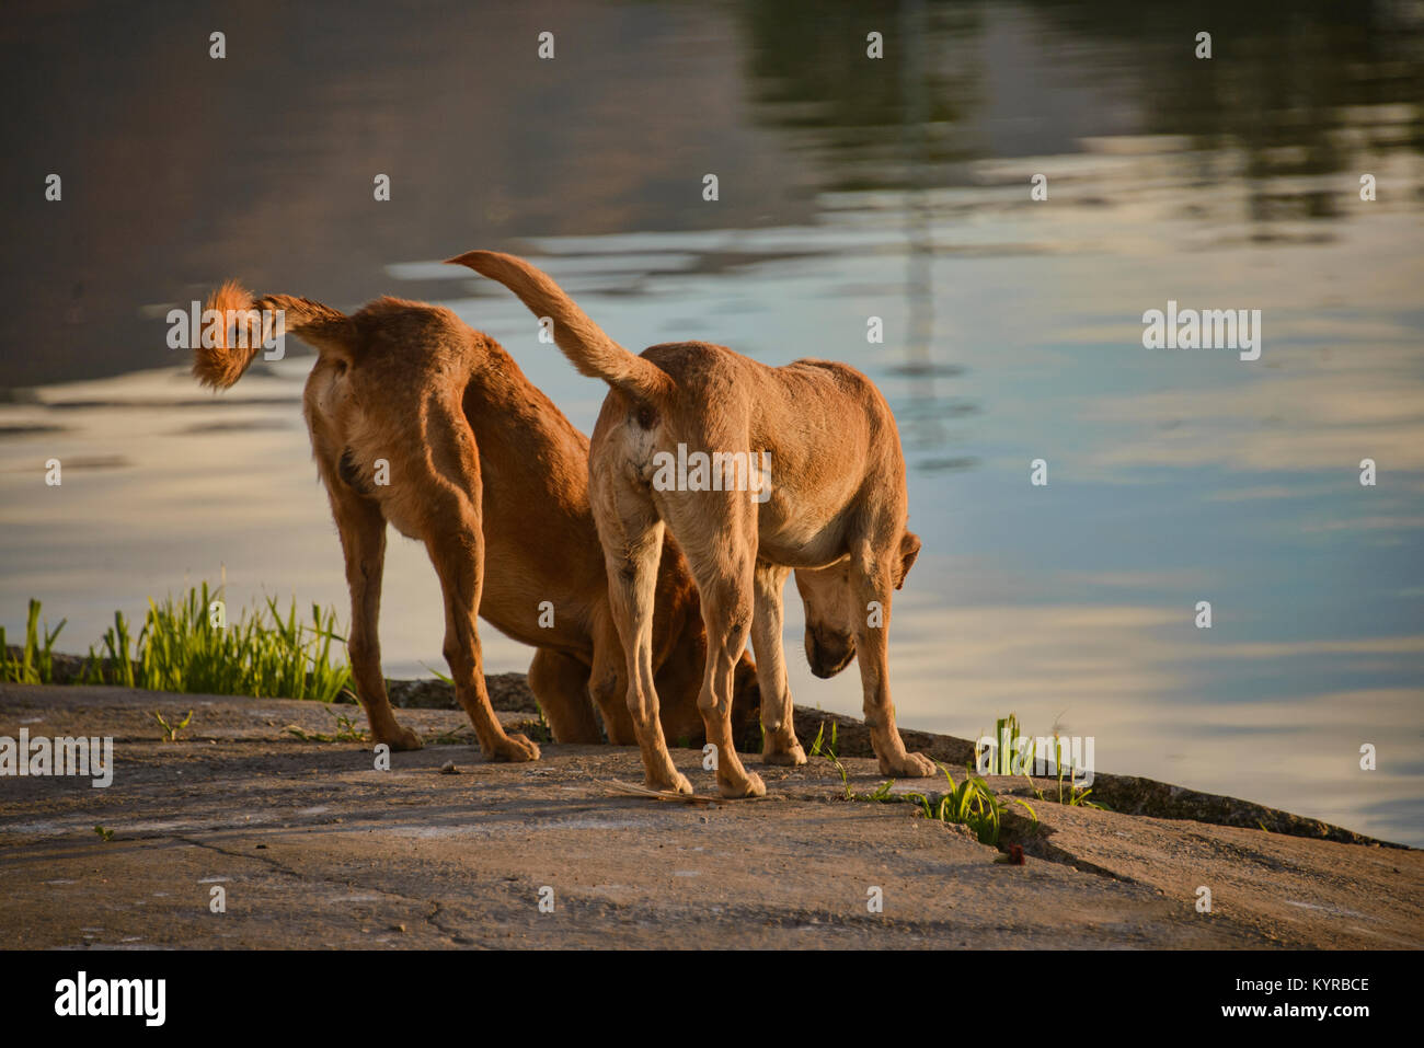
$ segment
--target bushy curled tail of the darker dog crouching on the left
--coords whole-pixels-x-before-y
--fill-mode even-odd
[[[209,310],[221,318],[221,332],[208,326]],[[356,329],[345,313],[292,295],[253,298],[236,281],[228,281],[208,296],[204,308],[204,323],[195,336],[194,377],[204,386],[226,389],[242,377],[269,339],[286,332],[300,332],[322,356],[352,362]]]

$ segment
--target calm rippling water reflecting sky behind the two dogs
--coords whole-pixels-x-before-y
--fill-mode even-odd
[[[236,604],[345,615],[310,357],[212,399],[164,347],[167,306],[216,279],[441,302],[591,429],[604,386],[439,265],[503,248],[625,345],[833,357],[880,384],[924,540],[891,632],[903,723],[973,736],[1014,711],[1095,736],[1102,770],[1424,844],[1417,7],[365,14],[316,51],[316,14],[279,40],[232,26],[226,66],[191,54],[225,21],[201,4],[88,44],[73,28],[100,7],[10,30],[57,77],[13,85],[11,168],[68,174],[63,204],[30,177],[10,199],[37,202],[7,205],[27,251],[0,263],[0,379],[31,390],[0,404],[7,628],[40,597],[83,651],[115,608],[219,570]],[[1260,309],[1260,360],[1143,349],[1168,300]],[[384,599],[387,674],[443,669],[419,545],[393,538]],[[810,676],[800,627],[792,591],[796,701],[859,712],[854,672]],[[491,671],[527,666],[484,639]]]

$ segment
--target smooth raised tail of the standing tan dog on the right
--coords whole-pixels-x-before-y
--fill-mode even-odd
[[[581,374],[602,379],[635,400],[658,403],[672,392],[672,379],[666,372],[651,360],[634,356],[608,337],[548,273],[540,272],[524,259],[496,251],[468,251],[447,262],[470,266],[481,276],[498,281],[513,290],[534,316],[553,319],[554,342]]]

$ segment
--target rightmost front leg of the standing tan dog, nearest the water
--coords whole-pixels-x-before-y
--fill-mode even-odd
[[[890,701],[890,594],[894,585],[894,561],[873,550],[852,555],[852,592],[859,607],[852,611],[860,685],[864,689],[866,728],[870,745],[880,759],[880,775],[897,779],[923,779],[936,773],[934,762],[924,753],[907,753],[894,722]]]

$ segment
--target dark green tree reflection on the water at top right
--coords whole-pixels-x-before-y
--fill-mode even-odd
[[[1343,172],[1360,144],[1424,144],[1417,111],[1364,128],[1360,141],[1340,135],[1346,107],[1424,100],[1420,14],[1403,3],[907,1],[867,13],[864,4],[749,0],[739,13],[750,33],[755,118],[799,134],[824,162],[826,188],[948,185],[985,155],[1071,151],[1081,135],[1114,131],[1239,147],[1237,177],[1249,182]],[[1002,31],[1011,23],[1031,23],[1051,41],[1051,70],[1015,61],[1025,56]],[[871,28],[900,30],[890,43],[910,60],[893,64],[900,75],[850,61]],[[1215,64],[1193,56],[1202,30],[1213,33]],[[1062,77],[1054,85],[1065,97],[1042,91],[1045,75]],[[1077,105],[1084,90],[1109,104]],[[906,135],[904,127],[918,130]],[[1259,185],[1252,201],[1252,218],[1263,222],[1340,215],[1339,195],[1324,191]]]

